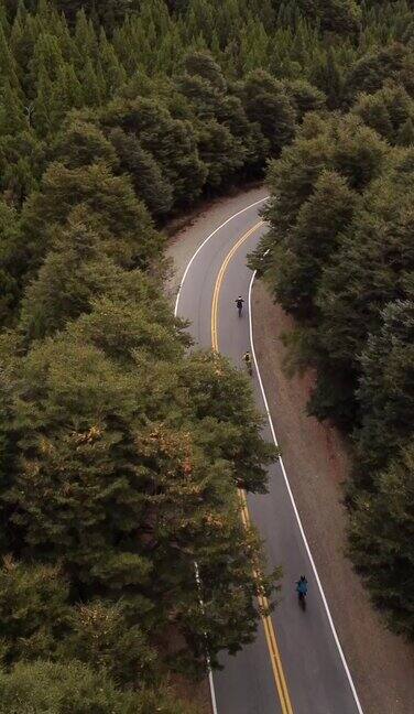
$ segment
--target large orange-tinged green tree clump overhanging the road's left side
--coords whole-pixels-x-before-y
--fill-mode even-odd
[[[216,410],[214,397],[227,381],[231,393],[243,393],[242,378],[222,359],[195,357],[197,372],[190,363],[174,376],[153,323],[162,356],[145,354],[140,307],[129,314],[120,303],[116,317],[110,310],[108,300],[97,303],[66,334],[33,346],[22,363],[14,404],[20,463],[3,496],[13,511],[9,538],[19,533],[32,558],[61,562],[83,597],[122,592],[146,627],[153,621],[162,628],[174,613],[203,664],[206,634],[213,658],[253,635],[257,585],[246,553],[254,559],[259,543],[241,524],[235,484],[263,490],[262,464],[274,452],[261,441],[246,397],[222,426],[209,415],[206,397],[203,408],[194,403],[196,374],[200,388],[210,386]],[[139,328],[131,334],[133,324]],[[188,397],[179,415],[175,394],[183,390]],[[194,560],[211,602],[208,615],[199,607]],[[271,578],[263,587],[271,592]],[[229,592],[235,595],[225,617]]]

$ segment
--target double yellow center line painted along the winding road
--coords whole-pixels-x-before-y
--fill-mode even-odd
[[[219,296],[220,296],[220,289],[221,289],[221,283],[224,280],[224,277],[226,274],[226,270],[230,263],[230,260],[235,256],[235,253],[238,251],[240,246],[248,239],[250,236],[255,232],[261,226],[263,225],[263,220],[260,220],[252,228],[250,228],[246,234],[239,238],[239,240],[233,245],[231,250],[228,252],[226,256],[221,268],[218,272],[214,293],[213,293],[213,305],[211,305],[211,346],[215,351],[219,351],[218,349],[218,303],[219,303]],[[239,500],[240,500],[240,513],[241,513],[241,520],[243,522],[244,528],[250,528],[251,526],[251,520],[250,520],[250,513],[248,509],[248,501],[246,497],[246,491],[241,488],[238,489],[238,495],[239,495]],[[281,703],[281,708],[282,708],[282,714],[293,714],[293,708],[291,704],[291,697],[288,694],[287,685],[286,685],[286,679],[283,672],[283,667],[282,667],[282,660],[277,647],[277,641],[276,641],[276,636],[274,632],[274,627],[273,627],[273,621],[270,615],[266,613],[270,612],[270,606],[269,606],[269,601],[268,598],[262,594],[262,588],[261,588],[261,575],[260,572],[257,570],[257,567],[253,566],[253,573],[254,573],[254,578],[258,584],[258,601],[260,605],[260,610],[262,613],[261,618],[264,627],[264,635],[266,638],[268,642],[268,648],[269,648],[269,653],[270,653],[270,660],[272,664],[272,671],[273,671],[273,677],[276,685],[276,690],[279,693],[279,699]]]

